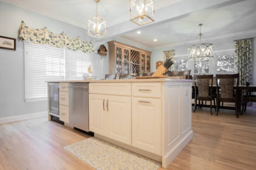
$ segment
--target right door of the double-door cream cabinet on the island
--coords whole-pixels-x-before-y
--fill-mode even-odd
[[[131,145],[131,97],[108,96],[109,137]]]

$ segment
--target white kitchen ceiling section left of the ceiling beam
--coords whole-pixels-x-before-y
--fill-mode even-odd
[[[51,18],[87,29],[87,20],[96,14],[95,0],[0,0]],[[155,10],[181,0],[158,0]],[[129,0],[101,0],[99,14],[108,27],[129,20]]]

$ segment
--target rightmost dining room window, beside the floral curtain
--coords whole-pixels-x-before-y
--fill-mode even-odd
[[[237,61],[234,55],[217,57],[217,73],[237,73]]]

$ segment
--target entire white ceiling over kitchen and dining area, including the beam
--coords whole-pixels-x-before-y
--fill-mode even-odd
[[[0,1],[85,29],[87,20],[96,14],[95,0]],[[129,0],[101,0],[99,14],[108,23],[108,36],[96,41],[122,39],[148,49],[178,45],[198,40],[199,23],[210,39],[255,29],[255,8],[255,0],[155,0],[155,22],[140,27],[129,20]]]

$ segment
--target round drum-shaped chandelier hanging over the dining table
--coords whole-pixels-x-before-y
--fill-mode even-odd
[[[190,60],[205,60],[213,58],[213,44],[211,43],[202,43],[201,37],[203,33],[201,33],[201,26],[203,24],[199,24],[200,26],[200,43],[194,44],[188,47],[188,59]]]

